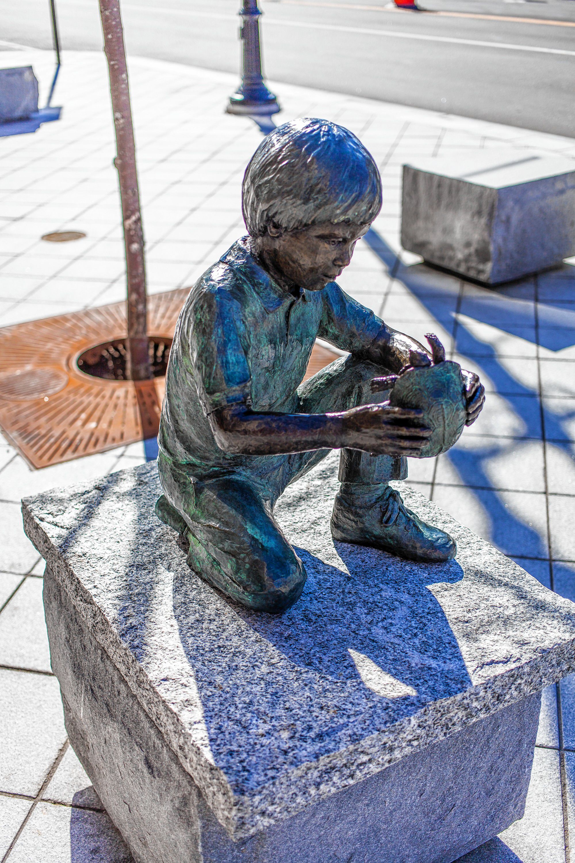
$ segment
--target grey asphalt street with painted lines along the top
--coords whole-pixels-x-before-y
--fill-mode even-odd
[[[97,0],[57,3],[63,47],[100,50]],[[128,51],[239,70],[239,5],[124,0]],[[266,74],[575,137],[575,0],[423,5],[427,11],[413,12],[378,0],[261,0]],[[0,38],[48,47],[47,0],[4,3]]]

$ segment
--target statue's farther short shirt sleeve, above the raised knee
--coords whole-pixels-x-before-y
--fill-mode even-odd
[[[384,329],[381,318],[348,296],[334,281],[323,288],[322,299],[322,320],[317,335],[340,350],[372,359],[372,344]],[[377,350],[374,362],[378,357]]]

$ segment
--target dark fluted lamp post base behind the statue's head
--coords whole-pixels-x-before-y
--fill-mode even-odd
[[[240,9],[243,23],[240,38],[243,42],[243,74],[241,85],[230,97],[228,114],[269,117],[280,110],[278,100],[271,93],[261,73],[261,47],[259,44],[258,0],[244,0]]]

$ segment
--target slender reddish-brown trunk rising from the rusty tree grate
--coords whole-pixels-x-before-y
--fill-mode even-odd
[[[112,95],[112,110],[116,128],[117,155],[114,164],[120,180],[128,273],[126,375],[130,381],[147,381],[152,377],[152,374],[147,338],[146,266],[122,16],[119,0],[99,0],[99,3],[103,29],[103,49],[106,60],[108,60],[109,89]]]

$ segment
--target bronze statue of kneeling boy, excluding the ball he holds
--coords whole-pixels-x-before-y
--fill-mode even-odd
[[[248,608],[281,612],[306,574],[274,504],[341,448],[334,539],[448,560],[453,539],[389,485],[407,476],[406,457],[431,430],[421,411],[372,394],[374,378],[433,358],[334,281],[381,208],[372,156],[334,123],[284,123],[247,166],[242,201],[248,236],[197,281],[178,319],[159,429],[159,518],[188,539],[188,563],[207,582]],[[316,337],[349,356],[302,383]],[[477,375],[463,381],[471,425],[484,391]]]

